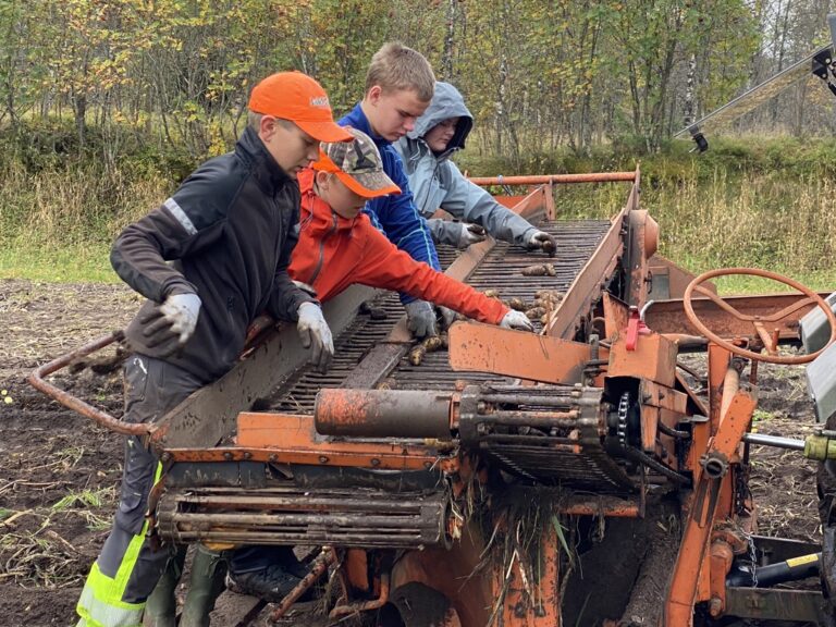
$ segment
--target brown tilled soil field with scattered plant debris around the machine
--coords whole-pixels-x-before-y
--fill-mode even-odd
[[[122,440],[29,388],[37,366],[123,328],[140,298],[120,285],[0,282],[0,625],[74,625],[74,605],[110,526]],[[100,369],[99,369],[100,370]],[[59,386],[122,411],[121,370],[83,369]],[[814,429],[799,367],[762,366],[757,428],[803,438]],[[819,541],[815,465],[753,447],[759,532]],[[310,624],[310,622],[306,622]],[[213,625],[232,625],[219,613]]]

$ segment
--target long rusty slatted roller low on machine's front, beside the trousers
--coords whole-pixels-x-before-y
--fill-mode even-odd
[[[157,529],[175,543],[420,548],[448,543],[448,515],[443,489],[192,488],[162,494]]]

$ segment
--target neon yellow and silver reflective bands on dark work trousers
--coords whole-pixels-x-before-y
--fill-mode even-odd
[[[157,464],[153,484],[160,480],[162,464]],[[76,612],[82,619],[76,627],[140,627],[143,623],[143,603],[125,603],[122,597],[134,570],[134,564],[145,542],[148,531],[148,520],[143,529],[131,540],[127,551],[122,556],[116,576],[111,578],[99,570],[99,564],[94,562],[87,581],[84,583],[82,597],[78,599]]]

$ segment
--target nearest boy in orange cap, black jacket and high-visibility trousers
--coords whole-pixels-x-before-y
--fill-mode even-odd
[[[296,321],[314,360],[328,367],[331,332],[287,265],[299,218],[296,176],[318,158],[320,142],[348,139],[316,81],[298,72],[273,74],[253,89],[249,123],[235,150],[200,165],[116,238],[113,269],[148,299],[127,329],[133,354],[125,362],[123,420],[156,420],[223,376],[262,311]],[[168,548],[151,546],[145,520],[159,472],[155,454],[128,437],[119,509],[76,606],[78,626],[136,627],[143,620],[170,555]],[[184,616],[181,625],[189,620]]]

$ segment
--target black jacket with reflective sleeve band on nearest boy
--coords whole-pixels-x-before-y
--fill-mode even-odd
[[[200,165],[113,244],[113,269],[149,299],[128,325],[132,348],[159,356],[139,320],[172,292],[196,293],[202,306],[195,334],[168,360],[206,383],[235,362],[256,316],[297,320],[299,305],[312,300],[287,275],[298,221],[296,181],[248,127],[234,152]]]

